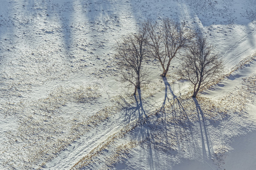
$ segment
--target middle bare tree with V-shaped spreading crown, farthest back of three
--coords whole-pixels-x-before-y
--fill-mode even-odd
[[[169,18],[159,22],[147,20],[143,28],[148,35],[151,55],[157,58],[163,68],[162,77],[166,77],[171,60],[180,53],[181,48],[188,46],[194,37],[193,31],[185,23],[177,23]]]

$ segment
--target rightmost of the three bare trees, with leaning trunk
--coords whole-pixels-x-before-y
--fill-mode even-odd
[[[197,34],[194,45],[183,58],[183,71],[180,74],[194,85],[194,98],[198,91],[215,82],[223,69],[223,62],[218,59],[214,49],[215,46],[209,44],[201,34]]]

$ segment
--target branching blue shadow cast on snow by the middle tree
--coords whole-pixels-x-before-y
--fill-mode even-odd
[[[193,124],[183,107],[182,101],[175,95],[166,78],[163,78],[163,82],[165,84],[165,97],[157,115],[158,119],[162,120],[161,125],[164,129],[163,140],[172,145],[171,141],[174,139],[177,144],[177,148],[171,152],[175,156],[178,150],[183,150],[183,141],[190,141],[189,144],[192,145],[190,148],[195,148],[195,136],[193,136],[192,132]],[[168,94],[171,94],[171,97],[168,97]],[[168,107],[166,107],[167,101],[170,104]],[[190,152],[193,154],[194,150]]]

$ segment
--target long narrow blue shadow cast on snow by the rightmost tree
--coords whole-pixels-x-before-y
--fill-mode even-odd
[[[204,158],[207,159],[207,150],[208,150],[208,159],[210,159],[211,153],[213,153],[213,149],[211,147],[211,140],[210,140],[210,136],[209,136],[209,132],[208,132],[207,121],[205,119],[204,112],[202,111],[197,99],[193,98],[193,100],[195,102],[196,110],[198,113],[198,120],[199,120],[199,125],[200,125],[202,147],[203,147],[203,156],[204,156]],[[200,117],[200,115],[201,115],[201,117]],[[203,123],[203,125],[202,125],[202,123]],[[204,128],[204,130],[203,130],[203,128]],[[204,139],[206,140],[207,150],[206,150]]]

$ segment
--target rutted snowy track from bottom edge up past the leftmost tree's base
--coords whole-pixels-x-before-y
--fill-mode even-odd
[[[110,136],[119,133],[127,125],[136,126],[141,119],[145,119],[145,116],[160,108],[163,99],[159,96],[164,96],[163,93],[165,92],[160,92],[154,97],[143,100],[143,106],[141,106],[141,100],[137,96],[137,102],[127,103],[127,107],[81,136],[62,151],[58,157],[47,163],[44,169],[71,169],[80,159],[107,141]]]

